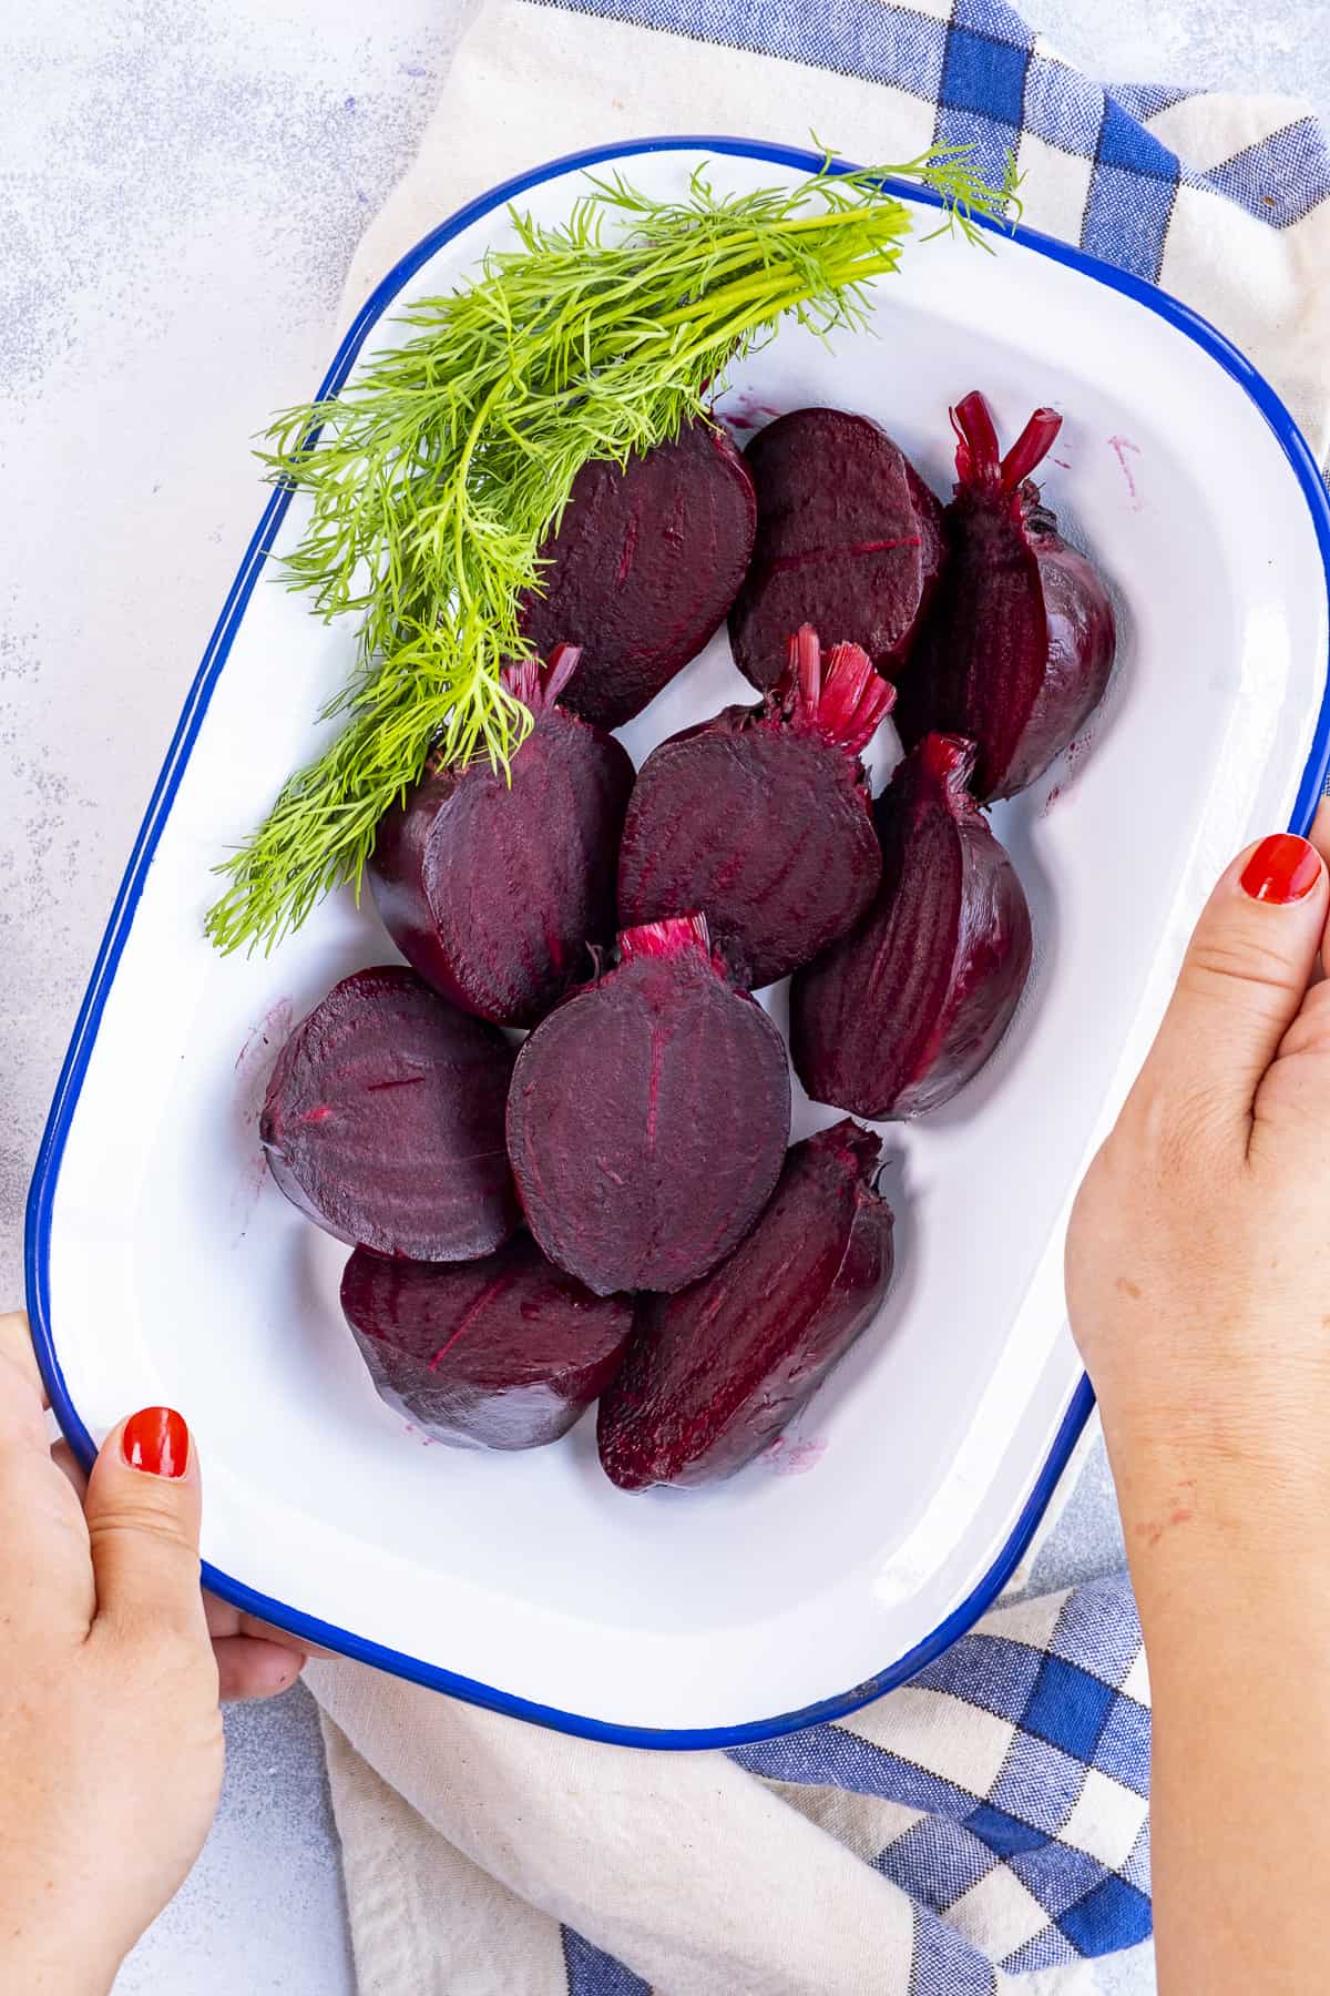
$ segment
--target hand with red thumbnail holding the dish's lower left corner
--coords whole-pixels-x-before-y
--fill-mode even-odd
[[[80,1501],[26,1323],[0,1317],[0,1988],[102,1996],[207,1836],[223,1743],[197,1535],[179,1415],[122,1423]]]

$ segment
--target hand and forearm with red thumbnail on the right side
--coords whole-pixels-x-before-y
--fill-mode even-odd
[[[1330,816],[1200,916],[1069,1236],[1153,1691],[1161,1996],[1328,1986]]]

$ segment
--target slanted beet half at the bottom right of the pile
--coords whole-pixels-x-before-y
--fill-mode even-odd
[[[620,1489],[708,1483],[752,1461],[873,1319],[891,1281],[879,1138],[845,1120],[786,1154],[736,1253],[680,1295],[644,1295],[596,1435]]]

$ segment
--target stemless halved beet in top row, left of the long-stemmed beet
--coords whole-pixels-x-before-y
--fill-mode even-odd
[[[792,631],[861,645],[895,679],[941,573],[941,505],[885,429],[841,409],[794,409],[744,453],[758,537],[730,611],[734,663],[774,687]]]

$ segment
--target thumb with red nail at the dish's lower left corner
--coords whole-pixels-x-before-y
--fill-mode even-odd
[[[197,1451],[171,1407],[144,1407],[106,1437],[84,1497],[98,1623],[207,1643],[199,1497]]]

